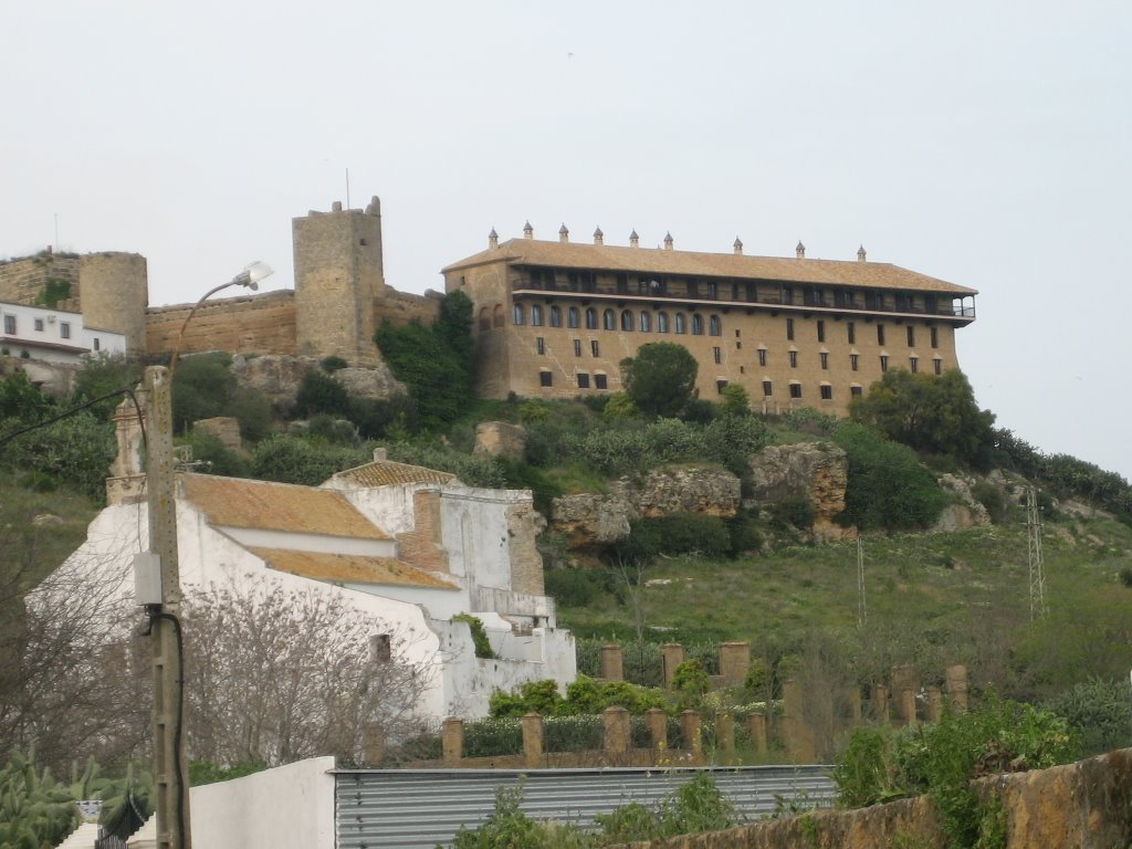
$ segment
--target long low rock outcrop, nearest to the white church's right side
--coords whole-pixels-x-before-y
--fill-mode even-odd
[[[571,548],[609,544],[628,535],[632,520],[670,513],[730,518],[740,500],[738,478],[723,469],[694,465],[653,470],[640,481],[621,478],[610,490],[556,498],[551,530]]]

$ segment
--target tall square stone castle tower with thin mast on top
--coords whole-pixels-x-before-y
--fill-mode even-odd
[[[380,200],[375,196],[365,212],[335,203],[291,223],[297,353],[376,366],[374,305],[385,295]]]

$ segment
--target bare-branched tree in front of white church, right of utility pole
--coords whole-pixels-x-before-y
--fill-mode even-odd
[[[341,597],[246,582],[188,597],[183,619],[195,760],[357,763],[420,726],[428,664],[397,662],[406,635]]]

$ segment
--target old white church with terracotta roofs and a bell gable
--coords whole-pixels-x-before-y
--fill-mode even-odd
[[[129,597],[148,523],[136,419],[125,408],[115,418],[110,506],[61,569]],[[556,627],[543,594],[539,522],[529,491],[475,489],[383,456],[320,488],[204,474],[177,481],[186,593],[282,585],[342,598],[381,620],[375,646],[430,670],[418,705],[429,718],[483,717],[496,688],[574,679],[574,638]],[[462,612],[483,621],[496,658],[475,655],[469,625],[453,621]]]

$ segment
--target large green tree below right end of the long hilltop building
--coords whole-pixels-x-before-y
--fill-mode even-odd
[[[994,413],[979,410],[967,377],[893,369],[849,404],[850,418],[916,451],[950,454],[985,468],[995,444]]]

